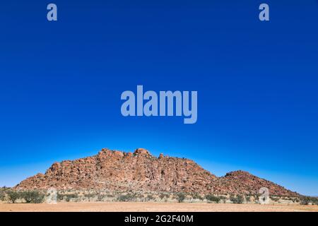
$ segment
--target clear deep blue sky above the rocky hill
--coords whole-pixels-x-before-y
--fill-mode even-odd
[[[188,157],[318,194],[318,1],[6,1],[0,186],[101,148]],[[124,90],[197,90],[198,121],[122,117]]]

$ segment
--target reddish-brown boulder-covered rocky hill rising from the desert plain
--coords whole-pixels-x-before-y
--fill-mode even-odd
[[[54,163],[45,174],[25,179],[16,189],[107,189],[111,191],[167,191],[200,194],[257,194],[265,186],[270,194],[298,196],[282,186],[248,172],[216,177],[194,161],[154,157],[139,148],[134,153],[100,150],[98,155]]]

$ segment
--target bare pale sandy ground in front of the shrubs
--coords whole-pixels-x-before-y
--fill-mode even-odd
[[[318,206],[296,204],[210,204],[210,203],[0,203],[1,212],[318,212]]]

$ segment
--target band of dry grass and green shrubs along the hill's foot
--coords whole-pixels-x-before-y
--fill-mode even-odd
[[[17,191],[11,188],[0,188],[0,201],[10,203],[43,203],[45,201],[46,191]],[[208,203],[258,203],[257,194],[247,194],[246,196],[218,196],[216,194],[199,193],[169,193],[169,192],[142,192],[142,191],[120,191],[108,190],[64,190],[57,192],[57,201],[78,202],[78,201],[163,201],[163,202],[204,202]],[[310,196],[270,196],[271,201],[282,203],[296,203],[300,205],[318,205],[317,197]]]

